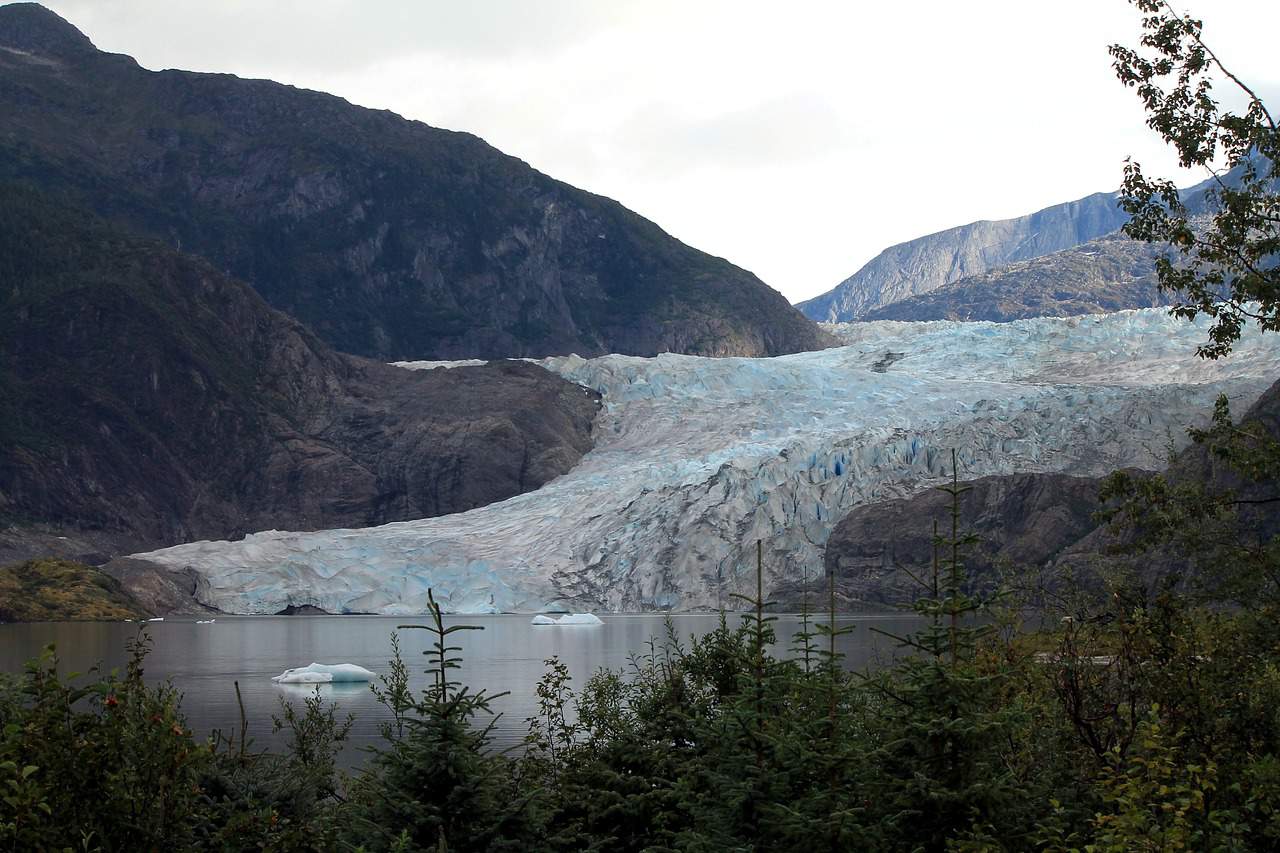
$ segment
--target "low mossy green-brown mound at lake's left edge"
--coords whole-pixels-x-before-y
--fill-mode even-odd
[[[115,578],[68,560],[0,566],[0,622],[118,620],[146,616]]]

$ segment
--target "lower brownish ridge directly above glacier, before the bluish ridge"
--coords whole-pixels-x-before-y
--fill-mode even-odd
[[[1119,233],[966,275],[863,314],[863,320],[995,320],[1103,314],[1167,305],[1156,278],[1161,250]]]

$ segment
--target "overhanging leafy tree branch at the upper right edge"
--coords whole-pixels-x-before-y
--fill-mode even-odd
[[[1128,160],[1124,233],[1174,250],[1156,264],[1160,286],[1179,296],[1175,315],[1212,318],[1197,352],[1217,359],[1249,320],[1280,330],[1280,129],[1257,92],[1206,45],[1201,20],[1166,0],[1130,3],[1143,13],[1143,35],[1138,47],[1111,46],[1116,76],[1137,90],[1147,126],[1176,149],[1179,164],[1206,169],[1212,183],[1203,197],[1188,197]],[[1217,78],[1239,90],[1243,110],[1215,97]]]

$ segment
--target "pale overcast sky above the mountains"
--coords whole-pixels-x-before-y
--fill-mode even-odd
[[[46,0],[146,68],[468,131],[792,301],[886,246],[1178,177],[1114,78],[1124,0]],[[1197,0],[1268,104],[1280,3]]]

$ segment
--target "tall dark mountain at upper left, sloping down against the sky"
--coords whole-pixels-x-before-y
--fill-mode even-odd
[[[755,275],[467,133],[146,70],[0,6],[0,179],[64,193],[380,360],[829,345]]]

